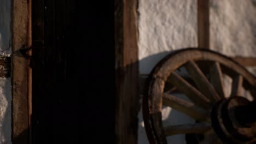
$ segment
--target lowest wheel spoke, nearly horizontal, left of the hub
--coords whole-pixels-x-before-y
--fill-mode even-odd
[[[181,124],[164,128],[166,136],[176,134],[201,134],[210,129],[210,123]]]

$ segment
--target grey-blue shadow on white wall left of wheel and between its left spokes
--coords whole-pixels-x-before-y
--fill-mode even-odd
[[[165,51],[156,53],[155,55],[151,55],[148,57],[145,57],[139,61],[139,72],[140,74],[149,74],[152,69],[155,67],[155,65],[161,61],[162,58],[167,56],[173,51]],[[143,88],[142,88],[143,89]],[[183,94],[176,94],[178,98],[182,98],[185,100],[189,99],[185,97]],[[138,113],[138,144],[148,144],[148,138],[146,131],[144,129],[144,122],[143,122],[143,116],[142,116],[142,97],[143,95],[140,95],[140,104],[141,109]],[[187,115],[184,115],[181,112],[178,112],[174,109],[171,109],[171,107],[162,107],[162,121],[164,126],[167,125],[176,125],[176,124],[184,124],[184,123],[194,123],[193,119],[188,117]],[[185,143],[185,135],[174,135],[167,137],[167,142],[170,143]]]

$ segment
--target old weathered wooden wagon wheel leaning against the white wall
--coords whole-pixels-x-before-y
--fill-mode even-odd
[[[182,67],[188,71],[195,85],[176,73],[176,70]],[[229,96],[225,95],[223,88],[224,74],[232,78]],[[192,102],[167,93],[165,91],[166,83],[171,83]],[[251,143],[254,141],[255,135],[245,136],[248,139],[242,141],[242,138],[245,137],[239,133],[239,130],[236,129],[238,131],[236,134],[239,133],[238,138],[242,135],[242,140],[236,140],[236,135],[229,133],[229,127],[223,124],[228,122],[222,115],[224,108],[220,110],[220,106],[225,104],[228,105],[226,107],[230,107],[229,105],[237,104],[236,101],[249,103],[247,99],[240,100],[241,97],[238,97],[239,100],[227,100],[228,97],[241,96],[242,88],[249,91],[255,99],[256,78],[229,57],[210,50],[194,48],[170,53],[155,66],[146,81],[146,91],[143,95],[143,120],[150,144],[167,143],[166,136],[176,134],[203,135],[203,140],[198,141],[198,143]],[[163,127],[162,105],[185,113],[185,115],[195,119],[196,123]],[[230,123],[234,124],[234,122]],[[231,130],[233,129],[232,127]],[[253,133],[250,132],[250,134]]]

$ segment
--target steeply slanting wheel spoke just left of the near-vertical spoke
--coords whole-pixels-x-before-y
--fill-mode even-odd
[[[202,73],[194,61],[189,61],[184,66],[188,70],[189,74],[193,77],[193,80],[195,81],[199,90],[204,95],[207,95],[212,103],[220,99],[218,93],[215,91],[211,83],[207,80],[206,76]]]

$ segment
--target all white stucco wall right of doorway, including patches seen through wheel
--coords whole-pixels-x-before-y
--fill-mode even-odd
[[[256,57],[255,7],[255,0],[210,0],[211,50],[228,56]],[[197,46],[197,0],[139,0],[138,12],[141,74],[149,74],[169,52]],[[256,74],[255,68],[248,69]],[[230,82],[225,78],[226,93],[230,93]],[[138,143],[148,143],[142,111],[138,118]],[[162,110],[162,118],[164,125],[193,122],[170,107]],[[185,143],[184,135],[167,137],[167,141]]]

